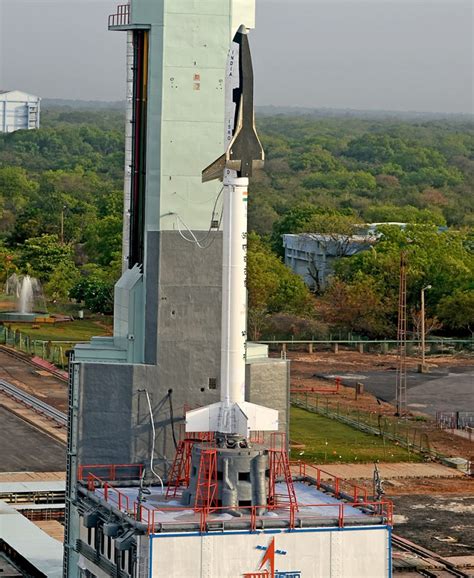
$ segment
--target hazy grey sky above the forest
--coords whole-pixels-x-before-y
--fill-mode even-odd
[[[119,1],[0,0],[0,88],[124,98]],[[259,105],[473,112],[472,0],[257,0]]]

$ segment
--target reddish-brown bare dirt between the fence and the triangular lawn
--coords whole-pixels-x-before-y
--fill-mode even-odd
[[[341,386],[337,394],[325,394],[324,390],[334,388],[334,382],[317,377],[325,372],[337,375],[338,371],[358,373],[374,369],[394,369],[396,367],[396,356],[394,355],[374,355],[360,354],[351,351],[344,351],[335,355],[334,353],[317,352],[313,354],[290,352],[288,359],[291,360],[291,388],[315,388],[321,392],[317,394],[318,403],[327,406],[329,409],[339,410],[341,413],[357,412],[369,413],[373,417],[373,423],[377,423],[377,416],[394,417],[395,408],[392,404],[377,399],[375,396],[364,393],[355,399],[354,387]],[[430,358],[431,359],[431,358]],[[417,359],[407,360],[409,367],[417,366]],[[431,363],[433,360],[431,359]],[[472,365],[472,357],[436,357],[438,367],[453,367]],[[474,386],[473,386],[474,389]],[[316,403],[316,394],[308,395],[310,403]],[[474,396],[474,393],[473,393]],[[410,426],[416,428],[419,435],[426,434],[429,439],[430,448],[448,457],[463,457],[465,459],[474,456],[474,444],[468,439],[451,434],[446,430],[436,427],[435,421],[428,415],[418,411],[410,412]]]

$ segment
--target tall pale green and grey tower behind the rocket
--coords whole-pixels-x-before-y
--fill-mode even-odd
[[[127,38],[124,272],[113,337],[77,346],[71,363],[66,576],[78,467],[153,457],[166,475],[184,409],[219,399],[220,184],[201,171],[224,150],[231,39],[254,18],[255,0],[132,0],[109,20]],[[247,361],[248,401],[278,409],[286,429],[286,361],[262,346]]]

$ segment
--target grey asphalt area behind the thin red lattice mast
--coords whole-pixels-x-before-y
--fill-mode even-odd
[[[341,373],[344,385],[361,382],[366,391],[392,402],[395,398],[395,369]],[[474,411],[474,367],[433,369],[430,373],[409,371],[408,405],[413,410],[436,415],[437,411]]]

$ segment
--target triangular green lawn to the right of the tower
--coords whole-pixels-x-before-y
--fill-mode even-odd
[[[296,407],[291,408],[290,440],[304,445],[292,449],[293,460],[318,464],[421,461],[418,455],[392,442],[384,443],[379,436]]]

